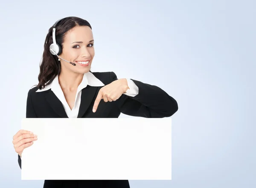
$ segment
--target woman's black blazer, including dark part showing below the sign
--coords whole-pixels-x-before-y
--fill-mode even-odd
[[[117,80],[114,72],[93,72],[94,76],[105,85]],[[133,79],[131,79],[133,80]],[[120,113],[135,117],[163,118],[170,117],[178,110],[177,102],[165,91],[155,85],[133,80],[139,88],[139,94],[129,97],[125,94],[112,102],[101,100],[96,113],[93,104],[101,87],[87,85],[81,93],[81,105],[78,118],[118,118]],[[38,87],[28,92],[26,118],[68,118],[61,101],[51,89],[35,92]],[[21,159],[18,155],[21,168]],[[63,164],[65,165],[65,164]],[[44,188],[129,188],[128,180],[45,180]]]

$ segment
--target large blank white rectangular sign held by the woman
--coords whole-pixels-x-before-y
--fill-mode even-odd
[[[172,177],[171,118],[25,118],[21,179]]]

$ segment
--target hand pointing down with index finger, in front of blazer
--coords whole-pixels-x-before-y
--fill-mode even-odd
[[[124,94],[128,87],[127,80],[125,78],[115,80],[108,85],[103,86],[96,97],[93,105],[93,112],[96,112],[99,102],[103,99],[105,102],[116,101]]]

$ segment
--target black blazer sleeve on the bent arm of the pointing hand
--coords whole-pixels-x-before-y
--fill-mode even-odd
[[[110,72],[111,82],[118,80],[114,72]],[[131,79],[138,87],[134,97],[122,94],[116,104],[121,113],[135,117],[163,118],[171,117],[178,110],[177,101],[163,89]]]

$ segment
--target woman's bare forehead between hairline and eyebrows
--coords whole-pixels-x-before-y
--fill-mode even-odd
[[[89,26],[76,26],[67,31],[64,42],[73,43],[83,41],[84,43],[93,40],[93,32]]]

